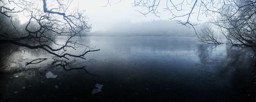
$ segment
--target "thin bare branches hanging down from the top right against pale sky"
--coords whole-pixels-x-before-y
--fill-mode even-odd
[[[108,4],[117,1],[108,0]],[[197,17],[197,22],[200,21],[200,15],[207,16],[213,20],[214,24],[222,27],[229,22],[233,22],[232,27],[225,28],[232,29],[243,26],[256,15],[255,0],[134,0],[132,4],[135,7],[146,8],[146,11],[138,11],[144,16],[154,14],[160,17],[161,9],[164,9],[165,12],[170,13],[169,19],[176,19],[178,23],[193,27],[194,30],[194,26],[199,23],[191,23],[191,19],[194,19],[192,16]],[[160,8],[161,4],[165,5],[164,8]],[[197,35],[196,30],[195,33]],[[200,38],[198,35],[197,37]],[[230,38],[227,38],[230,41]],[[247,42],[248,40],[244,41]]]

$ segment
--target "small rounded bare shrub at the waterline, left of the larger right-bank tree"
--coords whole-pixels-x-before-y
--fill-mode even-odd
[[[199,31],[199,41],[208,44],[223,44],[222,40],[218,38],[217,31],[211,23],[204,23],[202,29]]]

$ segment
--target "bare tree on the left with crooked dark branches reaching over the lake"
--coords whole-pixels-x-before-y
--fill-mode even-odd
[[[30,49],[43,49],[55,57],[84,58],[88,52],[98,50],[93,46],[79,44],[72,38],[91,30],[84,10],[69,8],[72,0],[0,0],[0,16],[9,18],[15,33],[0,33],[0,43],[12,43]],[[29,12],[29,21],[19,29],[14,22],[16,13]],[[15,36],[12,36],[15,35]],[[55,41],[57,35],[69,35],[64,44]],[[31,45],[30,42],[34,42]],[[53,44],[52,45],[50,45]],[[84,48],[81,54],[66,53],[67,50]]]

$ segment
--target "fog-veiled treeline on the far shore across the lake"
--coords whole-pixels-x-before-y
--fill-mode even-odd
[[[196,37],[192,28],[182,26],[175,20],[152,20],[149,22],[123,22],[114,24],[106,31],[89,32],[87,36],[179,36]]]

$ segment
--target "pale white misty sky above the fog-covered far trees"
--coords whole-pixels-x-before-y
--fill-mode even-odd
[[[140,14],[138,11],[145,12],[145,8],[141,7],[133,7],[133,0],[112,0],[111,6],[106,4],[108,3],[108,0],[74,0],[71,8],[77,7],[79,5],[80,9],[86,10],[86,15],[90,18],[89,23],[92,23],[93,29],[92,31],[98,31],[98,30],[108,30],[111,29],[113,25],[120,24],[122,22],[146,22],[150,20],[158,20],[158,19],[168,19],[168,17],[171,17],[169,12],[164,12],[163,8],[165,7],[165,2],[162,2],[159,7],[159,12],[161,14],[159,15],[161,18],[158,18],[154,14],[148,14],[147,17]],[[163,0],[162,0],[163,1]],[[118,3],[119,2],[119,3]],[[191,5],[188,5],[187,8],[189,9]],[[181,11],[177,12],[177,14],[184,14],[189,11]],[[26,14],[25,14],[26,15]],[[23,14],[19,14],[20,20],[22,23],[26,22],[28,18],[25,18]],[[191,22],[196,22],[197,15],[191,16]],[[187,17],[178,18],[180,20],[186,20]],[[200,15],[201,22],[205,22],[207,19]]]

